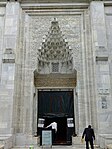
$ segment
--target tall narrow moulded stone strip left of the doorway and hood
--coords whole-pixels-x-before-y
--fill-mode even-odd
[[[33,134],[33,129],[36,129],[36,120],[33,121],[33,118],[36,118],[33,105],[36,104],[36,96],[34,98],[34,71],[36,69],[36,50],[33,51],[32,39],[31,39],[31,26],[30,26],[30,16],[25,14],[23,28],[24,28],[24,43],[22,45],[24,51],[23,59],[23,82],[22,87],[24,91],[21,94],[21,100],[23,101],[23,111],[21,111],[21,118],[23,118],[23,133],[27,135]],[[34,53],[35,52],[35,53]],[[36,105],[34,105],[36,106]],[[35,107],[36,110],[36,107]],[[34,115],[33,115],[34,114]]]

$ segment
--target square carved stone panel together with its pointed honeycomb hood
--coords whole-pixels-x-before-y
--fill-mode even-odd
[[[64,19],[63,17],[59,18],[58,16],[56,16],[56,18],[58,21],[57,20],[50,21],[51,16],[47,18],[45,18],[44,16],[31,16],[30,50],[32,51],[31,57],[33,57],[31,65],[32,67],[34,67],[34,65],[38,67],[37,69],[40,73],[51,73],[51,65],[49,61],[54,60],[54,62],[57,61],[59,61],[59,63],[61,62],[59,69],[62,70],[62,73],[72,72],[73,65],[75,65],[74,68],[80,71],[81,18],[80,16],[74,16],[74,17],[69,16],[69,18],[68,16],[66,16],[65,17],[66,19]],[[67,20],[69,21],[69,26],[67,26],[66,24]],[[52,22],[51,26],[49,22]],[[56,35],[55,37],[55,35],[53,34],[53,30],[54,32],[58,32],[59,35],[58,36]],[[55,44],[59,44],[56,45],[58,46],[57,48],[58,50],[55,50],[55,44],[52,45],[53,40],[55,40]],[[45,49],[44,54],[42,52],[43,48]],[[48,50],[49,48],[50,50]],[[69,56],[67,55],[67,52],[69,52],[68,54]],[[74,64],[73,61],[75,61]]]

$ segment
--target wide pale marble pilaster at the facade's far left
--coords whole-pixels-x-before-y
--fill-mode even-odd
[[[1,8],[0,8],[1,9]],[[0,134],[9,135],[13,133],[13,103],[14,103],[14,81],[17,58],[17,37],[19,22],[19,3],[7,2],[4,17],[4,41],[2,53],[2,72],[0,83],[0,105],[2,111]],[[3,30],[2,30],[3,31]]]

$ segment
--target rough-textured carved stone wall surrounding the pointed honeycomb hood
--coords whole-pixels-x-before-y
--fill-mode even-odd
[[[59,28],[61,27],[61,35],[63,35],[63,40],[65,42],[69,43],[69,48],[72,49],[71,52],[73,51],[73,66],[70,64],[70,68],[68,66],[68,70],[72,71],[72,69],[77,69],[80,71],[80,65],[81,65],[81,16],[80,15],[75,15],[75,16],[65,16],[65,20],[61,16],[61,14],[58,14],[54,16],[58,20],[58,25]],[[31,35],[31,44],[30,44],[30,49],[31,49],[31,57],[32,57],[32,62],[31,62],[31,67],[36,69],[38,67],[38,61],[37,58],[39,57],[39,52],[38,50],[42,48],[43,42],[48,38],[48,35],[50,32],[50,28],[52,26],[49,25],[49,22],[52,20],[52,16],[48,16],[47,18],[44,16],[30,16],[30,35]],[[67,25],[67,20],[69,21],[69,25]],[[42,26],[44,25],[44,28]],[[66,24],[66,25],[65,25]],[[46,36],[45,36],[46,35]],[[50,36],[50,35],[49,35]],[[65,36],[65,37],[64,37]],[[43,41],[42,41],[42,37]],[[68,41],[67,41],[67,40]],[[67,44],[68,44],[67,43]],[[40,48],[39,48],[40,47]],[[50,71],[50,65],[49,63],[46,63],[43,65],[43,62],[40,63],[41,67],[39,67],[39,72],[44,72],[45,67],[42,68],[42,66],[46,65],[48,73],[51,73]],[[60,69],[62,69],[63,64],[60,64]],[[71,67],[72,66],[72,67]],[[63,67],[63,71],[65,70],[65,64]]]

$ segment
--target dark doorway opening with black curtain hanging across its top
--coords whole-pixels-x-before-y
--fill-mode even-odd
[[[38,134],[52,122],[57,123],[53,144],[71,144],[75,133],[73,91],[38,92]]]

